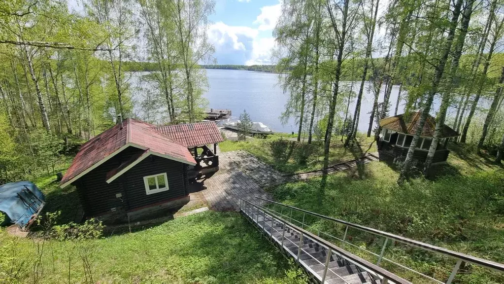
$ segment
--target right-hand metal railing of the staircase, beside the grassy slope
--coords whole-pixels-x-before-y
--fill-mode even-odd
[[[300,224],[300,228],[303,229],[303,228],[309,228],[311,230],[314,230],[314,231],[318,231],[318,236],[326,236],[326,237],[331,237],[333,239],[336,239],[336,240],[339,240],[341,241],[341,247],[344,248],[345,245],[349,245],[349,246],[352,246],[358,250],[361,250],[361,251],[364,251],[366,253],[369,253],[375,257],[377,257],[377,261],[376,261],[376,265],[379,266],[382,261],[386,261],[388,263],[391,263],[393,265],[397,265],[403,269],[406,269],[410,272],[413,272],[415,274],[418,274],[424,278],[427,278],[429,280],[432,280],[436,283],[440,283],[440,284],[450,284],[452,283],[452,281],[454,280],[462,262],[468,262],[468,263],[472,263],[472,264],[475,264],[477,266],[481,266],[481,267],[484,267],[484,268],[488,268],[488,269],[492,269],[492,270],[495,270],[495,271],[498,271],[498,272],[504,272],[504,264],[501,264],[501,263],[497,263],[497,262],[493,262],[493,261],[490,261],[490,260],[486,260],[486,259],[482,259],[482,258],[478,258],[478,257],[474,257],[474,256],[471,256],[471,255],[467,255],[467,254],[463,254],[463,253],[460,253],[460,252],[456,252],[456,251],[452,251],[452,250],[449,250],[449,249],[446,249],[446,248],[442,248],[442,247],[437,247],[437,246],[433,246],[433,245],[430,245],[430,244],[427,244],[427,243],[423,243],[423,242],[419,242],[419,241],[415,241],[415,240],[412,240],[412,239],[408,239],[408,238],[405,238],[405,237],[401,237],[401,236],[398,236],[398,235],[394,235],[394,234],[391,234],[391,233],[387,233],[387,232],[383,232],[383,231],[380,231],[380,230],[376,230],[376,229],[373,229],[373,228],[369,228],[369,227],[366,227],[366,226],[362,226],[362,225],[359,225],[359,224],[355,224],[355,223],[351,223],[351,222],[347,222],[347,221],[344,221],[344,220],[340,220],[340,219],[336,219],[336,218],[331,218],[331,217],[328,217],[328,216],[325,216],[325,215],[321,215],[321,214],[318,214],[318,213],[314,213],[314,212],[310,212],[310,211],[307,211],[307,210],[303,210],[303,209],[300,209],[300,208],[297,208],[297,207],[294,207],[294,206],[290,206],[290,205],[285,205],[285,204],[282,204],[282,203],[279,203],[279,202],[275,202],[275,201],[272,201],[272,200],[268,200],[268,199],[265,199],[265,198],[261,198],[261,197],[255,197],[256,200],[257,200],[257,206],[261,207],[261,208],[264,208],[266,211],[270,212],[270,213],[275,213],[275,214],[279,214],[280,216],[282,217],[285,217],[287,218],[287,220],[290,220],[291,223],[293,222],[296,222],[298,224]],[[269,207],[269,204],[275,204],[275,205],[280,205],[281,206],[281,211],[278,212],[278,211],[275,211],[273,209],[270,209]],[[290,209],[290,211],[287,211],[286,213],[287,214],[284,214],[284,208],[287,208],[287,209]],[[302,220],[299,221],[295,218],[292,218],[292,212],[294,211],[297,211],[297,212],[300,212],[300,213],[303,213],[303,217],[302,217]],[[314,217],[318,217],[320,219],[325,219],[325,220],[329,220],[329,221],[333,221],[333,222],[336,222],[338,224],[342,224],[345,226],[345,233],[343,235],[343,238],[338,238],[338,237],[335,237],[331,234],[328,234],[326,232],[322,232],[320,231],[320,229],[318,228],[313,228],[313,226],[310,226],[308,224],[305,223],[305,216],[306,215],[310,215],[310,216],[314,216]],[[381,249],[381,252],[380,254],[377,254],[377,253],[374,253],[374,252],[371,252],[369,250],[366,250],[360,246],[356,246],[350,242],[347,241],[347,234],[348,234],[348,229],[349,228],[354,228],[354,229],[357,229],[359,231],[362,231],[362,232],[365,232],[365,233],[370,233],[374,236],[380,236],[380,237],[384,237],[385,238],[385,241],[384,241],[384,244],[382,246],[382,249]],[[391,259],[388,259],[386,257],[384,257],[384,253],[385,253],[385,249],[387,247],[387,244],[389,243],[389,241],[392,240],[392,241],[397,241],[397,242],[400,242],[400,243],[403,243],[403,244],[406,244],[408,246],[411,246],[411,247],[414,247],[414,248],[419,248],[421,250],[425,250],[425,251],[430,251],[430,252],[434,252],[434,253],[438,253],[438,254],[441,254],[441,255],[444,255],[444,256],[448,256],[450,258],[454,258],[457,260],[455,266],[453,267],[453,270],[452,272],[450,273],[450,276],[449,278],[446,280],[446,282],[443,282],[443,281],[440,281],[440,280],[437,280],[431,276],[428,276],[428,275],[425,275],[419,271],[416,271],[410,267],[407,267],[405,265],[402,265],[400,263],[397,263],[395,262],[394,260],[391,260]]]

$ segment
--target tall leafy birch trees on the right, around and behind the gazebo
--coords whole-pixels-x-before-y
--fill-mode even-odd
[[[282,118],[295,118],[298,141],[307,132],[308,143],[322,125],[327,167],[333,135],[349,129],[345,146],[354,145],[360,116],[369,115],[369,137],[378,120],[398,115],[400,105],[406,117],[420,109],[401,183],[408,177],[413,152],[437,99],[435,133],[424,173],[444,124],[461,134],[459,143],[496,150],[495,161],[500,162],[503,5],[501,0],[284,1],[274,30],[275,59],[283,73],[279,80],[290,94]],[[343,82],[348,78],[358,78],[354,80],[359,83]],[[397,101],[390,101],[394,85],[399,86],[399,94]],[[374,97],[372,111],[361,113],[366,91]],[[355,108],[349,109],[352,101]],[[449,109],[454,116],[448,115]],[[476,114],[483,119],[475,119]],[[374,133],[378,140],[379,126]]]

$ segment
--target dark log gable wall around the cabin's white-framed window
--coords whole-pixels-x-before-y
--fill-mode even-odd
[[[109,213],[112,208],[127,211],[187,195],[185,164],[152,155],[107,184],[107,172],[139,151],[143,150],[135,147],[124,149],[74,183],[86,216]],[[147,195],[143,177],[160,173],[167,174],[169,190]],[[116,197],[118,193],[122,195],[120,198]]]

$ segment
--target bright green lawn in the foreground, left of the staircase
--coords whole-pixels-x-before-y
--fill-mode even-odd
[[[40,241],[40,240],[39,240]],[[0,232],[0,261],[17,264],[20,282],[33,282],[37,241]],[[203,212],[137,233],[88,241],[94,282],[100,283],[292,283],[299,271],[238,213]],[[81,244],[82,245],[82,244]],[[85,282],[82,260],[69,241],[45,242],[41,283]],[[15,253],[14,253],[15,252]],[[30,258],[31,255],[31,258]],[[24,261],[24,262],[23,262]],[[6,264],[8,262],[8,264]],[[89,280],[89,279],[88,279]]]

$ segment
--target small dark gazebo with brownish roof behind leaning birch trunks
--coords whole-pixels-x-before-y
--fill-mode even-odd
[[[401,115],[380,120],[379,123],[382,132],[380,133],[378,149],[394,157],[405,157],[410,148],[413,136],[415,135],[421,115],[422,112],[416,110],[407,113],[407,115],[402,113]],[[432,143],[435,127],[436,120],[429,115],[422,129],[417,148],[413,153],[414,158],[420,163],[425,162],[427,152]],[[457,131],[447,125],[443,125],[442,134],[432,160],[433,164],[446,162],[450,153],[450,150],[448,150],[448,143],[451,138],[459,135]]]

